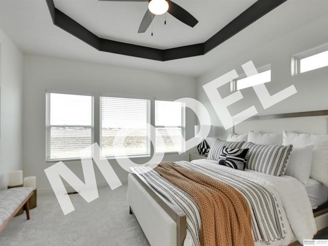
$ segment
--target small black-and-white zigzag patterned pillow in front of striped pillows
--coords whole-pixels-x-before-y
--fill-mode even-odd
[[[249,149],[229,149],[223,147],[219,165],[227,166],[233,169],[244,170],[246,167],[246,158]]]

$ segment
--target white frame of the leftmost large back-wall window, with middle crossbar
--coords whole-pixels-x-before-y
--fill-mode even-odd
[[[50,94],[65,94],[65,95],[77,95],[77,96],[91,96],[91,125],[78,126],[78,125],[51,125],[50,115],[51,115],[51,96]],[[51,153],[51,146],[48,146],[48,140],[51,139],[51,128],[91,128],[91,144],[94,142],[94,95],[91,93],[76,93],[76,92],[62,92],[56,90],[46,90],[46,163],[57,162],[61,160],[65,161],[76,161],[80,160],[80,157],[72,158],[50,158],[48,154]],[[50,142],[50,141],[49,141]],[[49,149],[50,148],[50,149]],[[49,150],[49,151],[48,151]],[[92,155],[92,154],[91,154]],[[90,156],[91,157],[91,156]]]

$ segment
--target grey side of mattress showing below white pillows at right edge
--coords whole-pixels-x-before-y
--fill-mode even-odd
[[[328,200],[328,187],[324,186],[319,181],[310,178],[308,183],[304,186],[306,192],[308,192],[312,209],[318,208],[318,206]]]

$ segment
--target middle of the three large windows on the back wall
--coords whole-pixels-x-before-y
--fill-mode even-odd
[[[147,137],[150,131],[150,100],[101,97],[100,103],[102,155],[150,155],[150,139]],[[124,142],[124,147],[113,145],[115,136]]]

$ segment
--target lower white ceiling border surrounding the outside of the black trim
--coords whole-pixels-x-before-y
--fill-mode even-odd
[[[75,0],[77,3],[79,1],[81,0]],[[175,1],[182,5],[182,0]],[[189,1],[186,0],[186,2]],[[292,36],[296,30],[303,29],[311,23],[319,25],[311,32],[311,35],[316,32],[322,35],[323,23],[326,23],[328,19],[327,13],[328,1],[326,0],[288,0],[207,54],[164,63],[128,55],[99,52],[79,38],[53,25],[45,0],[1,0],[0,32],[13,40],[24,54],[28,54],[27,57],[42,55],[104,66],[128,67],[140,69],[140,71],[148,70],[196,77],[242,54],[248,54],[245,58],[247,60],[253,59],[250,52],[254,53],[259,47],[282,36]],[[302,35],[307,37],[309,33],[304,32]],[[303,40],[291,40],[291,42],[303,42]],[[270,56],[267,59],[270,62]],[[237,63],[236,66],[240,64]]]

